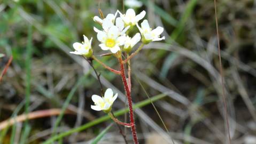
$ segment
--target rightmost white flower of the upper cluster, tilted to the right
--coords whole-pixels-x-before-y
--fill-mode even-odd
[[[141,28],[136,24],[139,31],[142,35],[142,42],[145,44],[148,44],[152,41],[161,41],[162,39],[165,39],[165,37],[160,38],[160,34],[164,31],[164,28],[157,27],[156,29],[151,29],[149,26],[148,20],[144,20],[141,23]]]

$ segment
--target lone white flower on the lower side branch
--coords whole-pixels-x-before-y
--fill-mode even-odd
[[[105,113],[111,111],[111,107],[115,99],[117,99],[118,93],[114,95],[112,89],[107,89],[104,97],[100,97],[99,95],[92,95],[91,99],[94,101],[95,105],[91,105],[91,109],[100,111],[103,110]]]

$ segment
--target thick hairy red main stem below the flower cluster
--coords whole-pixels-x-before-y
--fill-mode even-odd
[[[127,95],[127,99],[128,99],[130,123],[133,124],[131,126],[131,132],[133,133],[134,143],[137,144],[138,138],[137,138],[137,133],[136,133],[135,121],[134,121],[133,102],[131,100],[131,94],[130,94],[129,87],[128,87],[128,84],[126,81],[125,66],[123,65],[123,60],[121,57],[119,58],[119,63],[120,63],[121,77],[122,77],[123,85],[125,86],[125,91],[126,91],[126,95]]]

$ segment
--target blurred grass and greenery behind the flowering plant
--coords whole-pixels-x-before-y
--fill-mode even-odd
[[[139,141],[226,143],[214,1],[141,2],[136,13],[145,10],[152,27],[164,27],[166,40],[146,45],[131,60],[133,101],[148,100],[146,93],[151,98],[166,95],[154,104],[168,131],[147,101],[136,110]],[[232,143],[256,143],[256,3],[222,0],[216,6]],[[93,37],[96,55],[103,54],[93,30],[99,27],[92,20],[99,16],[98,8],[105,15],[123,12],[123,1],[0,0],[0,53],[5,54],[0,71],[13,56],[0,82],[0,122],[38,110],[73,111],[5,127],[0,130],[1,143],[40,143],[74,127],[82,128],[56,142],[90,143],[112,123],[107,119],[94,123],[104,115],[90,109],[91,95],[100,93],[99,84],[87,61],[69,54],[82,35]],[[119,68],[112,57],[100,59]],[[124,108],[120,77],[97,62],[94,65],[104,87],[119,93],[113,110]],[[127,120],[125,115],[119,118]],[[94,124],[83,127],[90,122]],[[132,143],[130,130],[122,129]],[[123,143],[116,125],[105,130],[99,143]]]

